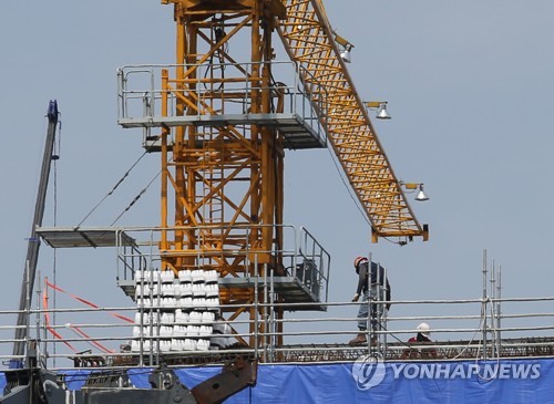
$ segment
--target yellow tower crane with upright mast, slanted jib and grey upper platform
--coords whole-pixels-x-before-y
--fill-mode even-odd
[[[327,252],[307,231],[293,241],[300,239],[301,262],[288,261],[285,151],[328,143],[373,241],[427,240],[427,226],[414,217],[392,172],[320,0],[162,3],[174,8],[175,64],[119,71],[119,123],[143,128],[144,147],[161,155],[161,270],[216,270],[227,320],[247,315],[249,335],[279,334],[283,323],[270,330],[265,320],[302,309],[293,303],[318,302],[320,282],[328,280],[321,270]],[[284,62],[276,58],[275,33],[288,53]],[[301,240],[318,252],[307,253],[314,248]],[[298,288],[305,298],[278,281],[299,269],[318,273],[317,281]],[[284,304],[271,313],[257,304],[257,282],[268,277],[275,302]],[[260,341],[250,336],[248,343]]]

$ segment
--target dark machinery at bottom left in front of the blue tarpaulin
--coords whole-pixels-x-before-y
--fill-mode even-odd
[[[33,344],[31,344],[33,345]],[[256,384],[256,362],[237,358],[222,372],[194,389],[183,385],[174,371],[161,366],[148,375],[147,387],[136,387],[130,370],[104,370],[83,374],[79,390],[69,387],[69,376],[38,367],[37,351],[30,348],[25,369],[4,373],[4,404],[110,404],[183,403],[217,404]],[[144,371],[143,371],[144,372]],[[135,382],[136,383],[136,382]]]

